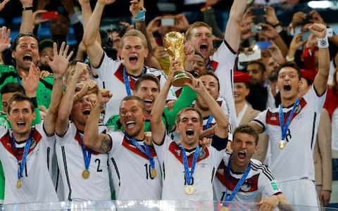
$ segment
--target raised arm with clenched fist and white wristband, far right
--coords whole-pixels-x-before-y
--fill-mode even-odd
[[[313,23],[309,28],[318,39],[318,73],[315,75],[313,86],[318,96],[322,96],[327,89],[327,79],[330,72],[330,53],[326,36],[326,26],[322,23]],[[326,44],[325,45],[325,41]],[[320,45],[322,43],[323,45]]]

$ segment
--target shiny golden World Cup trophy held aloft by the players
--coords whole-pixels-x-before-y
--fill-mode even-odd
[[[184,70],[184,37],[180,32],[169,32],[164,36],[164,49],[168,52],[170,61],[179,59],[178,66]],[[176,72],[171,84],[175,87],[182,87],[185,83],[192,83],[192,79],[185,71]]]

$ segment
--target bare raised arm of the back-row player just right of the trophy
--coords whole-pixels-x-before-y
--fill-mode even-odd
[[[246,8],[246,2],[243,0],[234,0],[230,9],[227,28],[225,29],[225,41],[230,44],[232,50],[238,51],[241,37],[241,20]]]

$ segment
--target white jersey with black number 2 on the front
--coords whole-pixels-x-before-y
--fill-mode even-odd
[[[99,127],[100,131],[104,129],[105,127]],[[56,136],[56,157],[63,183],[63,200],[111,200],[108,154],[92,152],[88,169],[90,176],[84,179],[81,139],[82,134],[77,131],[73,122],[70,122],[63,137]]]

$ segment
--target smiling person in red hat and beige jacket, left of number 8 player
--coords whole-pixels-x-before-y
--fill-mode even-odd
[[[238,125],[248,124],[260,112],[251,108],[246,101],[246,96],[250,93],[250,77],[247,72],[234,72],[234,108],[236,109]],[[253,154],[253,158],[263,162],[268,150],[268,135],[259,134],[258,151]],[[265,160],[264,163],[267,163]]]

